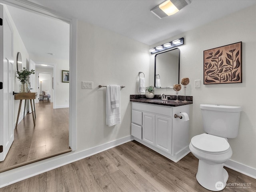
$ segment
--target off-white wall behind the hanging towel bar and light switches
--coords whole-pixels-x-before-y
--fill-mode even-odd
[[[88,23],[78,22],[77,35],[77,149],[85,150],[131,134],[130,94],[137,93],[138,72],[149,80],[148,45]],[[92,90],[82,81],[94,82]],[[121,124],[106,126],[106,88],[121,90]]]

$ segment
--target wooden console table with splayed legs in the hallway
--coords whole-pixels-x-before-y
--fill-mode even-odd
[[[36,122],[35,122],[35,118],[36,118],[35,99],[36,99],[36,96],[37,96],[36,92],[17,93],[17,94],[15,94],[14,99],[15,100],[20,100],[20,106],[19,106],[19,110],[18,110],[18,116],[17,116],[17,121],[16,121],[15,128],[17,128],[17,125],[18,125],[18,120],[19,120],[19,116],[20,116],[20,108],[21,108],[22,100],[25,100],[23,118],[25,116],[26,101],[27,101],[27,99],[30,100],[30,106],[31,106],[31,110],[32,110],[33,122],[34,122],[34,126],[36,126]],[[33,104],[34,104],[34,111],[33,111],[32,100],[33,100]]]

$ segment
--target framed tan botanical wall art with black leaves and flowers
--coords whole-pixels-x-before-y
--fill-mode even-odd
[[[242,83],[242,42],[204,51],[204,84]]]

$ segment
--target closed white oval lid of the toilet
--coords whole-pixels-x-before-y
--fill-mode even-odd
[[[199,150],[212,153],[224,152],[230,147],[225,138],[206,133],[194,136],[191,144]]]

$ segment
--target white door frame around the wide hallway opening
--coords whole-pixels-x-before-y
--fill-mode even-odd
[[[57,18],[70,24],[70,83],[69,83],[69,145],[72,151],[76,146],[76,37],[77,37],[77,19],[67,18],[47,8],[29,1],[8,1],[1,0],[2,4],[14,6],[22,10],[35,12],[43,16]]]

